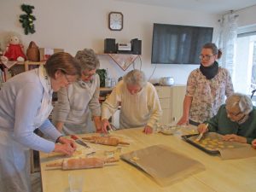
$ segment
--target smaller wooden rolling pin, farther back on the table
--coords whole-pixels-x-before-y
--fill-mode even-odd
[[[96,143],[96,144],[102,144],[102,145],[110,145],[110,146],[117,146],[119,144],[123,145],[130,145],[130,143],[125,143],[119,141],[117,138],[111,138],[111,137],[82,137],[82,139],[89,141],[90,143]]]

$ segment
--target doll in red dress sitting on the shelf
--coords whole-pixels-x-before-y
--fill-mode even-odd
[[[6,50],[3,53],[1,60],[8,59],[9,61],[25,61],[26,55],[23,53],[23,45],[20,44],[20,39],[16,36],[9,38],[9,44],[6,47]]]

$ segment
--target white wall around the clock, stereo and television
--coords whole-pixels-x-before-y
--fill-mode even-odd
[[[155,67],[150,61],[153,23],[212,26],[214,37],[218,32],[218,15],[115,0],[0,0],[0,3],[0,42],[6,40],[9,32],[18,32],[26,47],[30,41],[35,41],[39,47],[63,48],[74,55],[78,49],[84,48],[102,53],[104,38],[116,38],[117,42],[122,43],[139,38],[143,41],[142,69],[147,77]],[[34,22],[36,33],[32,35],[24,35],[18,21],[19,15],[23,14],[20,10],[21,3],[35,6],[33,15],[37,18]],[[253,10],[250,10],[250,15],[253,15]],[[110,11],[123,13],[124,29],[121,32],[108,29]],[[239,13],[242,24],[256,23],[255,16],[250,16],[251,20],[247,20],[246,13],[245,9]],[[3,49],[4,44],[1,46]],[[124,72],[107,55],[101,55],[100,60],[101,67],[108,67],[110,74],[116,79],[132,68],[131,66]],[[139,64],[137,60],[135,67],[138,68]],[[177,84],[186,84],[189,73],[196,67],[198,65],[157,65],[152,81],[156,82],[163,76],[173,76]]]

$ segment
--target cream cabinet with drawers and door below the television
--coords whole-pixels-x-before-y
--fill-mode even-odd
[[[183,114],[183,99],[186,85],[156,86],[163,114],[160,123],[170,124],[177,122]]]

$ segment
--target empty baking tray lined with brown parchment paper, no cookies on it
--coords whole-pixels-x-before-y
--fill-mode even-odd
[[[147,172],[160,186],[176,183],[205,170],[199,161],[179,154],[165,145],[154,145],[120,157]]]

